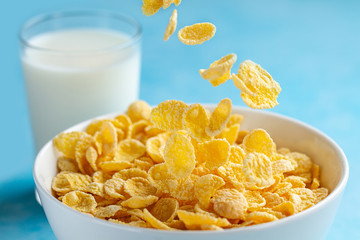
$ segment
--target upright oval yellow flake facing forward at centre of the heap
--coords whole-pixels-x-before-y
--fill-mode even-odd
[[[190,176],[196,164],[191,141],[179,133],[172,135],[165,145],[164,160],[169,172],[175,178]]]

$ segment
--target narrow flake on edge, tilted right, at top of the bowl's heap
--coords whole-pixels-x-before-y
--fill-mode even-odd
[[[231,116],[232,104],[231,100],[225,98],[219,102],[215,110],[210,116],[210,123],[205,131],[209,136],[216,136],[226,127]]]

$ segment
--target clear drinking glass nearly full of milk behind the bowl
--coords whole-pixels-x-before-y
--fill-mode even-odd
[[[141,28],[104,11],[66,11],[28,21],[21,61],[36,151],[59,132],[138,98]]]

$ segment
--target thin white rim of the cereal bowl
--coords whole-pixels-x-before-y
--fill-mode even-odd
[[[216,104],[202,104],[205,108],[207,109],[212,109],[216,107]],[[279,113],[274,113],[274,112],[270,112],[270,111],[266,111],[266,110],[255,110],[255,109],[249,109],[246,107],[241,107],[241,106],[233,106],[232,110],[235,112],[248,112],[248,113],[254,113],[256,112],[257,114],[260,115],[269,115],[272,117],[276,117],[276,118],[280,118],[282,120],[286,120],[286,121],[290,121],[293,122],[297,125],[300,125],[304,128],[308,128],[309,130],[311,130],[312,132],[315,132],[315,134],[321,136],[322,138],[324,138],[326,141],[328,141],[330,143],[330,145],[333,147],[333,149],[336,150],[337,154],[339,155],[339,161],[340,164],[342,165],[342,175],[341,178],[339,179],[338,184],[336,185],[336,187],[333,189],[333,191],[331,191],[329,193],[329,195],[321,200],[320,202],[318,202],[317,204],[313,205],[312,207],[296,213],[294,215],[279,219],[277,221],[273,221],[273,222],[267,222],[267,223],[262,223],[262,224],[257,224],[257,225],[252,225],[252,226],[246,226],[246,227],[241,227],[241,228],[231,228],[231,229],[225,229],[224,231],[216,231],[216,230],[210,230],[210,231],[201,231],[201,230],[192,230],[192,231],[169,231],[169,230],[161,230],[161,229],[151,229],[151,228],[141,228],[141,227],[133,227],[133,226],[128,226],[128,225],[121,225],[121,224],[117,224],[117,223],[112,223],[109,222],[107,220],[103,220],[100,218],[96,218],[96,217],[92,217],[89,216],[85,213],[76,211],[75,209],[72,209],[71,207],[62,204],[59,200],[57,200],[51,193],[49,193],[40,183],[39,179],[37,178],[37,166],[39,164],[38,159],[41,158],[41,156],[45,153],[46,149],[50,148],[52,145],[52,139],[49,140],[39,151],[39,153],[36,156],[35,162],[34,162],[34,166],[33,166],[33,178],[34,178],[34,182],[36,185],[36,190],[39,192],[42,192],[44,196],[46,196],[48,199],[51,199],[50,201],[53,201],[55,204],[57,204],[57,206],[59,206],[60,208],[63,208],[64,210],[70,210],[72,211],[74,214],[78,214],[79,217],[83,216],[83,217],[87,217],[89,221],[95,221],[95,223],[97,224],[101,224],[101,225],[106,225],[108,227],[112,227],[112,228],[118,228],[119,230],[123,230],[123,231],[131,231],[131,232],[137,232],[137,233],[161,233],[161,234],[183,234],[183,235],[207,235],[207,234],[225,234],[225,233],[241,233],[241,232],[251,232],[251,231],[260,231],[260,230],[266,230],[268,228],[272,228],[272,227],[276,227],[276,226],[280,226],[283,224],[287,224],[287,223],[291,223],[294,221],[297,221],[297,219],[306,217],[307,215],[311,214],[312,212],[325,207],[325,205],[327,205],[328,203],[330,203],[331,201],[333,201],[336,197],[338,197],[339,195],[342,194],[343,190],[345,189],[346,183],[348,181],[349,178],[349,164],[348,164],[348,160],[346,158],[346,155],[344,153],[344,151],[340,148],[340,146],[332,139],[330,138],[328,135],[326,135],[325,133],[323,133],[322,131],[316,129],[315,127],[310,126],[307,123],[304,123],[300,120],[297,120],[295,118],[292,117],[288,117]],[[68,132],[68,131],[72,131],[73,129],[79,128],[81,126],[84,126],[86,124],[89,124],[92,120],[95,119],[103,119],[103,118],[109,118],[109,117],[114,117],[116,115],[119,115],[122,113],[110,113],[110,114],[104,114],[101,116],[97,116],[85,121],[82,121],[78,124],[75,124],[69,128],[67,128],[66,130],[64,130],[63,132]]]

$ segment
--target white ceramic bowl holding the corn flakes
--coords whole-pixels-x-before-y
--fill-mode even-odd
[[[209,109],[213,107],[213,105],[208,106]],[[55,236],[66,240],[324,239],[348,179],[348,163],[343,151],[324,133],[297,120],[241,107],[233,107],[233,112],[244,115],[242,129],[264,128],[278,147],[288,147],[292,151],[308,154],[316,164],[320,165],[321,182],[330,189],[329,196],[317,205],[279,221],[220,232],[162,231],[119,225],[77,212],[51,195],[51,180],[56,175],[57,169],[52,142],[48,142],[35,160],[33,174],[41,204]],[[89,122],[82,122],[67,131],[84,130]]]

